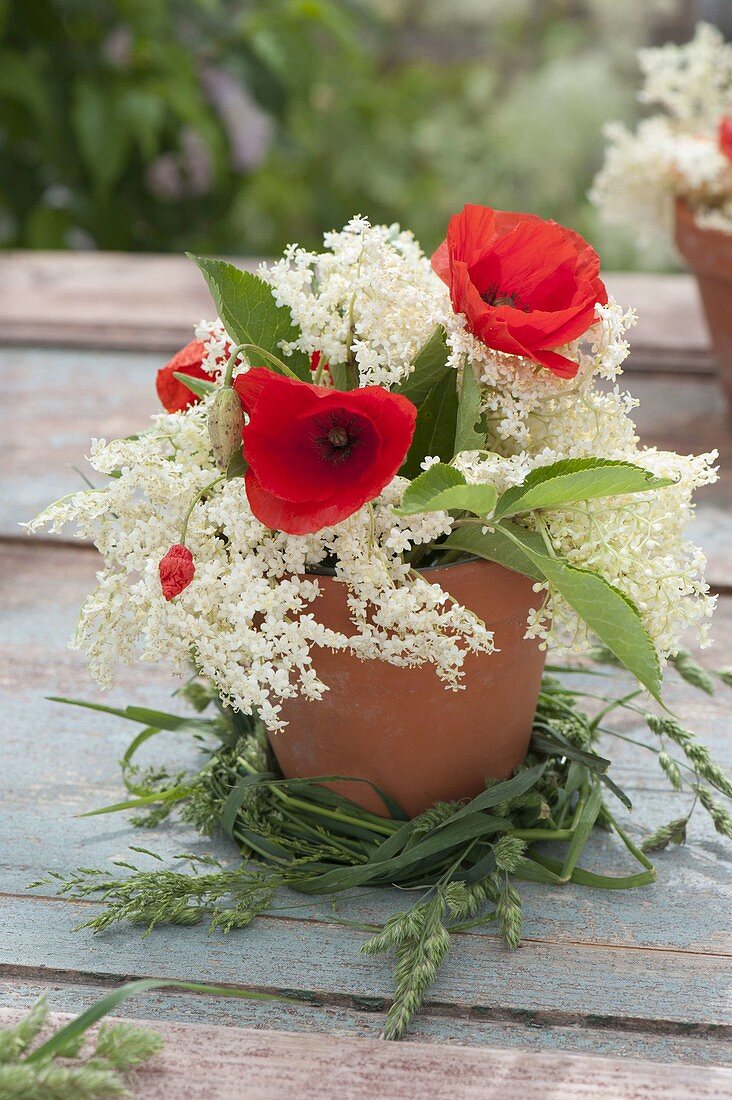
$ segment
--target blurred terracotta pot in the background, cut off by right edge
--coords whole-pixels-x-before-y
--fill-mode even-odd
[[[732,408],[732,233],[701,229],[678,199],[676,244],[697,276],[719,378]]]

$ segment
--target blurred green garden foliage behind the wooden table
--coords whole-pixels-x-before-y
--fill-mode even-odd
[[[658,265],[587,201],[602,124],[637,113],[638,46],[730,8],[0,0],[0,245],[270,255],[359,211],[431,249],[476,201]]]

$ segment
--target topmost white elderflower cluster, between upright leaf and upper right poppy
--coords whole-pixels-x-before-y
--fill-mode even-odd
[[[412,233],[352,218],[326,233],[325,252],[288,245],[260,268],[301,334],[289,345],[358,364],[362,386],[394,386],[431,334],[446,288]],[[288,345],[283,348],[285,353]]]

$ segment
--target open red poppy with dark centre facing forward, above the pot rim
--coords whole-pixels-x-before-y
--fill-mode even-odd
[[[249,414],[249,503],[261,522],[288,535],[312,535],[372,501],[414,435],[412,402],[380,386],[342,393],[258,366],[234,388]]]

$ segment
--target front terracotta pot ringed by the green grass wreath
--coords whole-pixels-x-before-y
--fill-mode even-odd
[[[495,651],[469,654],[466,686],[454,692],[431,666],[397,668],[319,649],[314,663],[330,690],[318,702],[287,701],[289,725],[271,736],[285,777],[369,779],[414,816],[440,800],[472,798],[488,777],[505,779],[522,763],[545,659],[524,632],[540,597],[531,580],[487,561],[436,566],[428,576],[494,631]],[[352,632],[345,585],[318,580],[316,616]],[[386,814],[364,783],[327,785]]]

